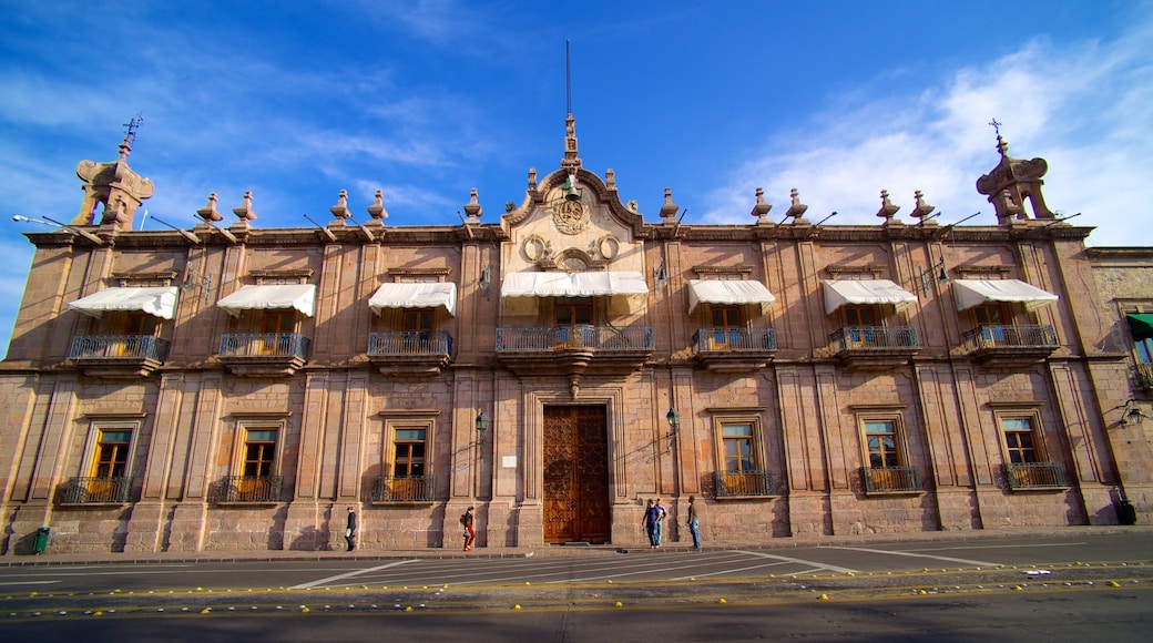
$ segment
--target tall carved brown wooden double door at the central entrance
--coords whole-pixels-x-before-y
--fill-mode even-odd
[[[603,406],[544,407],[544,542],[612,539]]]

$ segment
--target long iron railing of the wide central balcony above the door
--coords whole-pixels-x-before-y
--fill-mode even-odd
[[[653,326],[537,326],[497,328],[498,353],[653,350]]]

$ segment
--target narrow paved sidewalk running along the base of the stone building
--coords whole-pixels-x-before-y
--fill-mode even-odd
[[[843,545],[866,545],[874,543],[933,543],[996,540],[1010,537],[1033,538],[1069,538],[1094,537],[1110,534],[1144,534],[1153,537],[1153,525],[1077,525],[1047,527],[1022,529],[996,529],[972,531],[915,531],[909,534],[864,534],[858,536],[797,536],[773,538],[759,542],[724,542],[704,543],[706,551],[721,550],[779,550],[794,547],[821,547]],[[346,552],[301,551],[301,550],[242,550],[242,551],[201,551],[201,552],[91,552],[91,553],[52,553],[50,539],[47,552],[39,555],[0,557],[0,567],[21,566],[65,566],[65,565],[103,565],[103,563],[148,563],[148,562],[240,562],[240,561],[274,561],[274,560],[395,560],[395,559],[460,559],[460,558],[527,558],[527,557],[597,557],[619,553],[645,552],[660,555],[669,551],[688,551],[691,542],[669,543],[658,551],[649,550],[647,545],[541,545],[532,547],[477,547],[472,552],[458,549],[423,549],[423,550],[357,550]]]

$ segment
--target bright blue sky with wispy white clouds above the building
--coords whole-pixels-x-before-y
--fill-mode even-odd
[[[76,164],[114,160],[133,115],[176,226],[246,190],[257,227],[309,226],[341,189],[361,221],[380,189],[387,224],[452,225],[476,188],[495,222],[559,166],[566,39],[583,165],[647,221],[668,187],[687,224],[749,224],[762,187],[775,220],[798,188],[811,220],[876,224],[887,189],[898,218],[922,190],[993,224],[995,116],[1090,244],[1153,245],[1147,1],[0,0],[0,346],[22,233],[48,229],[12,215],[75,217]]]

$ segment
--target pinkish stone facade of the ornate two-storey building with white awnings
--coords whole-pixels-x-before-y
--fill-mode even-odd
[[[5,554],[45,525],[53,551],[322,550],[347,507],[367,550],[459,547],[468,506],[481,547],[640,544],[656,497],[666,542],[689,496],[714,543],[1153,510],[1126,322],[1151,254],[1087,250],[1000,137],[995,220],[967,226],[919,192],[837,226],[760,190],[747,225],[668,192],[646,222],[570,116],[560,167],[491,219],[474,191],[459,226],[390,226],[378,195],[361,225],[341,192],[323,227],[263,229],[212,195],[143,232],[128,151],[27,235]]]

